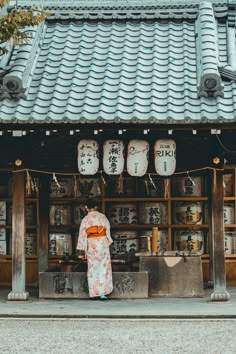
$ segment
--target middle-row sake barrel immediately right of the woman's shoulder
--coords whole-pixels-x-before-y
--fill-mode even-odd
[[[137,224],[136,204],[112,204],[108,214],[111,224]]]

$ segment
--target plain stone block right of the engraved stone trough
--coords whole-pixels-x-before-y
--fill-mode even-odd
[[[201,257],[140,257],[149,273],[149,296],[204,296]]]

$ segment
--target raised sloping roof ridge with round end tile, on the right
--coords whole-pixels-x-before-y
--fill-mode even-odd
[[[218,36],[213,5],[202,1],[196,21],[197,74],[199,97],[224,96],[223,83],[218,70]]]

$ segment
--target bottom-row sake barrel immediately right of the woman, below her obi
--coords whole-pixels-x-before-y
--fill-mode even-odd
[[[138,233],[136,231],[114,231],[111,254],[120,255],[138,251]]]

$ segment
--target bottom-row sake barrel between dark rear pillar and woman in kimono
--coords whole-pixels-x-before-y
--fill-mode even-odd
[[[49,234],[50,255],[70,255],[72,253],[71,235],[64,233]]]

